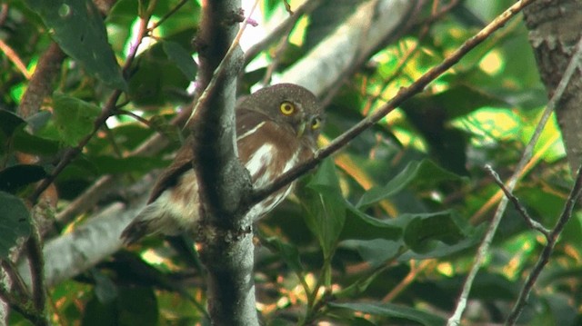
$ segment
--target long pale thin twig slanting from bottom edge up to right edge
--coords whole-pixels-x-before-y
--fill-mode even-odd
[[[514,5],[514,6],[516,6],[516,5]],[[576,70],[576,67],[578,65],[578,61],[580,60],[581,55],[582,55],[582,38],[580,39],[580,41],[578,41],[578,44],[576,47],[576,53],[572,56],[572,59],[570,60],[570,63],[568,64],[566,71],[564,72],[564,75],[562,76],[562,79],[560,80],[560,83],[556,87],[556,92],[553,94],[552,98],[547,103],[546,110],[542,114],[542,117],[541,117],[539,123],[537,123],[536,131],[532,135],[529,143],[527,143],[527,146],[524,150],[524,153],[522,154],[521,159],[519,160],[519,163],[517,163],[516,171],[513,173],[513,175],[511,176],[511,178],[509,178],[509,181],[507,182],[507,189],[509,191],[513,191],[513,189],[516,187],[517,180],[523,174],[523,170],[526,168],[527,163],[531,159],[532,153],[534,152],[534,147],[536,146],[536,143],[537,143],[537,140],[541,136],[541,133],[544,129],[544,126],[547,123],[547,120],[549,120],[551,114],[554,112],[554,109],[556,108],[557,103],[562,98],[562,94],[564,94],[564,91],[566,90],[566,86],[569,83],[570,79],[572,78],[572,74],[574,74],[574,71]],[[457,301],[457,307],[455,309],[455,312],[453,313],[453,315],[451,315],[451,317],[447,321],[447,325],[449,325],[449,326],[458,325],[460,323],[461,315],[463,314],[463,311],[465,310],[465,307],[467,306],[467,297],[468,297],[469,291],[471,291],[471,286],[472,286],[473,282],[475,281],[475,277],[477,276],[477,272],[479,271],[483,261],[485,260],[485,256],[489,250],[489,246],[491,245],[491,241],[493,240],[493,236],[495,235],[495,232],[497,231],[497,226],[499,225],[499,222],[501,222],[501,217],[505,213],[505,210],[507,208],[507,201],[508,201],[507,197],[503,197],[501,199],[501,201],[499,202],[499,205],[497,206],[497,211],[495,212],[495,215],[493,217],[493,221],[491,222],[491,225],[490,225],[489,229],[487,230],[487,233],[485,235],[485,238],[483,239],[483,242],[481,242],[481,244],[479,245],[479,249],[477,251],[477,257],[475,258],[475,262],[473,263],[473,266],[471,267],[471,271],[469,271],[469,273],[467,274],[467,280],[465,281],[465,284],[463,284],[463,290],[461,291],[461,294],[460,294],[459,299]],[[517,312],[517,315],[519,314],[519,312]]]

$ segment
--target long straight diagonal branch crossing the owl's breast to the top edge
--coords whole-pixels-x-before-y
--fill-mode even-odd
[[[352,139],[356,138],[357,135],[363,133],[367,128],[371,127],[384,116],[386,116],[386,114],[392,112],[396,106],[402,104],[413,95],[422,92],[427,84],[430,84],[438,76],[445,73],[448,68],[454,64],[457,64],[457,62],[465,54],[475,48],[478,44],[481,44],[485,39],[487,39],[489,35],[497,31],[497,29],[503,27],[510,18],[517,15],[517,13],[521,11],[523,7],[529,5],[533,1],[534,0],[523,0],[509,7],[504,13],[498,15],[493,22],[479,31],[477,35],[469,38],[464,44],[457,48],[457,50],[450,54],[441,64],[438,64],[437,66],[430,69],[420,78],[418,78],[415,83],[410,84],[410,86],[407,88],[402,88],[398,94],[392,98],[391,101],[384,104],[376,111],[376,113],[368,115],[365,119],[361,120],[359,123],[356,123],[352,128],[347,130],[346,133],[339,135],[326,147],[317,151],[311,160],[308,160],[305,163],[301,163],[293,169],[287,171],[278,177],[273,183],[270,183],[263,188],[254,190],[254,192],[249,196],[248,202],[246,203],[247,207],[241,207],[241,209],[247,209],[256,203],[261,202],[271,193],[276,192],[277,190],[296,180],[299,176],[305,174],[307,171],[315,168],[316,165],[321,163],[326,157],[336,153],[339,149],[346,146],[346,144],[349,143]]]

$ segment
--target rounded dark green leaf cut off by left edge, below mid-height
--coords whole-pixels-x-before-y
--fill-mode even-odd
[[[8,257],[20,237],[31,231],[30,212],[25,203],[10,193],[0,191],[0,260]]]

